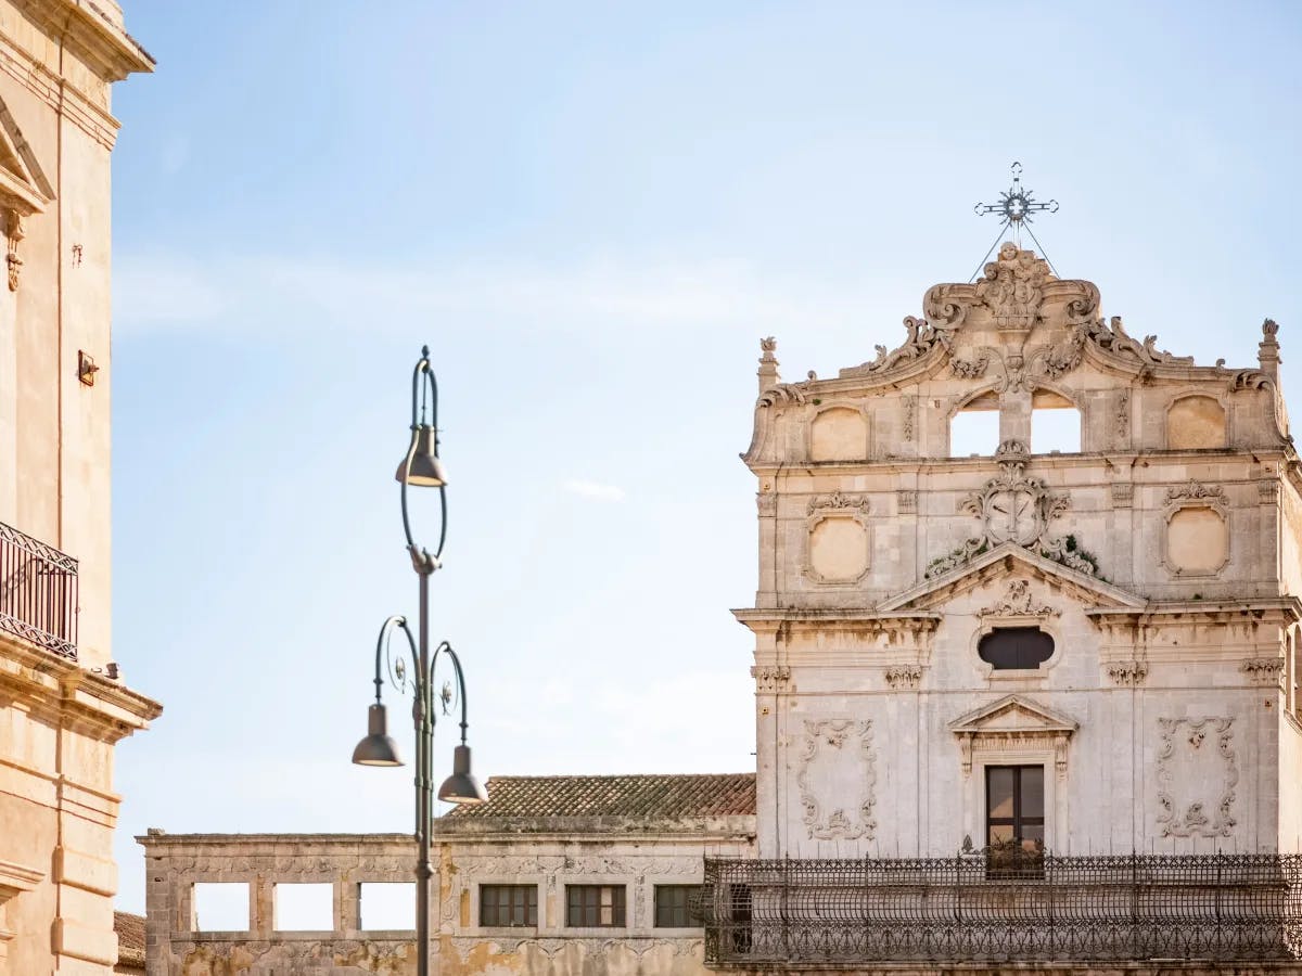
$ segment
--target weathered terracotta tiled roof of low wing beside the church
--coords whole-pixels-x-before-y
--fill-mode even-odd
[[[677,820],[755,813],[754,773],[700,776],[496,776],[488,802],[453,807],[449,820],[642,817]]]

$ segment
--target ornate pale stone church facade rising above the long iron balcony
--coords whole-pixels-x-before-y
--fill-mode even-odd
[[[922,307],[902,345],[833,379],[762,377],[745,461],[776,518],[736,613],[756,666],[790,673],[758,717],[762,856],[953,854],[987,835],[1003,766],[1051,773],[1059,852],[1297,850],[1302,476],[1279,325],[1256,367],[1199,366],[1012,243]],[[807,453],[828,403],[862,416],[870,455]],[[969,409],[997,437],[952,444]],[[1074,411],[1078,448],[1040,446],[1042,409]],[[796,513],[852,493],[872,556],[829,586]],[[987,656],[1032,631],[1051,651]],[[865,776],[807,772],[809,730],[841,725],[872,730],[871,830]]]

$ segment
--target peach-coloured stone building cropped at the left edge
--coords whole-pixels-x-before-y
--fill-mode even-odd
[[[159,705],[111,647],[112,0],[0,0],[0,972],[118,959],[113,744]]]

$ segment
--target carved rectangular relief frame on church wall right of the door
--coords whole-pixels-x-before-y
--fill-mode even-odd
[[[1159,718],[1157,826],[1161,837],[1229,837],[1238,765],[1233,717]]]

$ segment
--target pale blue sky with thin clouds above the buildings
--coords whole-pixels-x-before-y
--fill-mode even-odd
[[[115,656],[167,707],[118,750],[128,910],[146,826],[410,829],[348,759],[417,609],[424,342],[487,776],[751,768],[758,338],[786,379],[896,345],[1014,159],[1105,314],[1232,366],[1271,315],[1302,402],[1292,4],[125,7]]]

